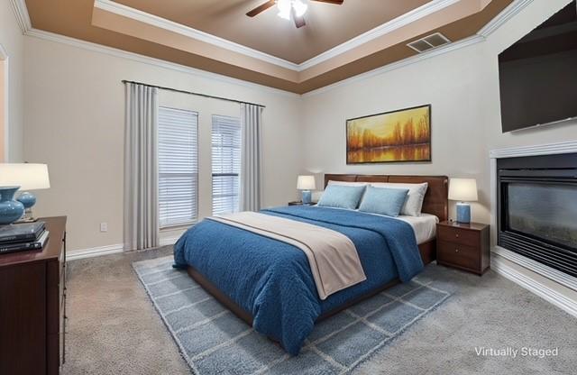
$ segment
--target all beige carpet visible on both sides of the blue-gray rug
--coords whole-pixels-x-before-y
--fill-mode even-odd
[[[64,374],[190,373],[131,266],[170,253],[166,247],[69,262]],[[354,373],[575,373],[574,317],[492,271],[479,278],[432,264],[419,279],[453,296]],[[559,355],[478,356],[476,346],[558,347]]]

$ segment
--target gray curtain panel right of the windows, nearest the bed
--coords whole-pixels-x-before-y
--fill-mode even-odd
[[[243,126],[241,210],[258,211],[261,209],[262,198],[262,107],[242,104],[241,123]]]

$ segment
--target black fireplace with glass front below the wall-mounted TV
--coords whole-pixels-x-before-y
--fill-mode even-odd
[[[497,160],[498,244],[577,277],[577,153]]]

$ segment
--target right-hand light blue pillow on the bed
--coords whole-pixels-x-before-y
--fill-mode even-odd
[[[407,199],[408,188],[369,187],[362,197],[359,211],[372,214],[398,216]]]

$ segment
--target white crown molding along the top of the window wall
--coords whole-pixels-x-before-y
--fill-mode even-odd
[[[154,59],[148,56],[140,55],[138,53],[128,52],[126,50],[118,50],[112,47],[103,46],[101,44],[92,43],[90,41],[81,41],[79,39],[70,38],[68,36],[60,35],[54,32],[45,32],[42,30],[31,29],[28,32],[26,32],[26,35],[34,38],[43,39],[45,41],[55,41],[62,44],[68,44],[69,46],[73,46],[83,50],[92,50],[95,52],[104,53],[106,55],[114,56],[117,58],[132,59],[133,61],[141,62],[143,64],[149,64],[164,69],[176,70],[200,78],[210,78],[224,83],[234,84],[237,86],[265,90],[270,93],[281,94],[283,96],[300,97],[298,94],[281,90],[279,88],[263,86],[257,83],[244,81],[242,79],[231,78],[220,74],[211,73],[206,70],[190,68],[185,65],[180,65],[174,62],[169,62],[162,59]],[[242,101],[243,99],[238,100]]]

